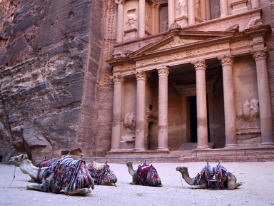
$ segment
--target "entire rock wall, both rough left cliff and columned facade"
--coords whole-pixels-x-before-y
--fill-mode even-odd
[[[1,159],[273,147],[270,4],[1,0]]]

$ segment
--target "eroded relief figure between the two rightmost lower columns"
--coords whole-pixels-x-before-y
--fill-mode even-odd
[[[248,121],[253,121],[259,116],[259,101],[255,98],[248,100],[243,104],[243,118]]]

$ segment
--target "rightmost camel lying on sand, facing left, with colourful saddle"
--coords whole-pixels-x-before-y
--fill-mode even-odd
[[[188,185],[193,185],[193,189],[207,189],[211,186],[209,182],[211,184],[212,181],[217,182],[217,185],[214,185],[215,189],[234,190],[242,185],[241,182],[237,182],[235,175],[228,172],[220,163],[214,168],[211,168],[208,164],[205,165],[203,170],[193,178],[189,177],[187,167],[177,167],[176,170],[181,172],[183,179]]]

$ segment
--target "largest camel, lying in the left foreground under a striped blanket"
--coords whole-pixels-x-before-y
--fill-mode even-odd
[[[44,168],[35,167],[24,154],[14,156],[9,161],[39,182],[27,185],[27,190],[55,193],[64,191],[66,195],[87,195],[94,189],[94,181],[86,164],[83,160],[73,160],[70,155],[65,155]]]

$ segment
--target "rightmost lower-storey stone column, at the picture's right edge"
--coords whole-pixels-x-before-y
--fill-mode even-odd
[[[270,89],[268,83],[268,68],[266,64],[267,49],[260,48],[251,51],[256,63],[258,95],[260,105],[261,147],[274,146],[273,119],[271,113]]]

